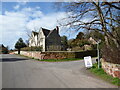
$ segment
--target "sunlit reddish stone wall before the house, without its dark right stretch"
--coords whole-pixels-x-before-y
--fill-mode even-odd
[[[14,52],[17,54],[18,52]],[[39,51],[21,51],[21,55],[34,57],[35,59],[64,59],[64,58],[75,58],[73,52],[39,52]]]

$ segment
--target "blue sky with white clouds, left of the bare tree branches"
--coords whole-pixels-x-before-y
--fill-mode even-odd
[[[0,44],[14,48],[16,41],[22,37],[28,39],[26,30],[38,30],[40,27],[54,29],[62,18],[67,17],[64,11],[56,11],[52,2],[3,2],[0,14]],[[67,35],[60,28],[60,35]],[[74,38],[76,34],[72,32]]]

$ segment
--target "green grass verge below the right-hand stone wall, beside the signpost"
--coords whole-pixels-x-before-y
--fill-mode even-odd
[[[107,82],[110,82],[114,85],[120,86],[120,79],[114,78],[110,75],[108,75],[102,68],[97,67],[97,64],[94,64],[93,67],[90,69],[92,73],[94,73],[96,76],[99,76],[100,78],[106,80]]]

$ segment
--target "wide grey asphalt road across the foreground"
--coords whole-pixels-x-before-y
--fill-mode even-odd
[[[83,60],[39,62],[2,55],[2,88],[117,88],[91,74]]]

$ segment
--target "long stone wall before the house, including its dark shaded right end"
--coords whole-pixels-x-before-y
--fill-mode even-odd
[[[15,52],[17,54],[17,52]],[[84,58],[85,56],[97,56],[96,50],[84,52],[68,52],[68,51],[55,51],[55,52],[39,52],[39,51],[21,51],[21,55],[34,57],[36,59],[65,59],[65,58]]]

